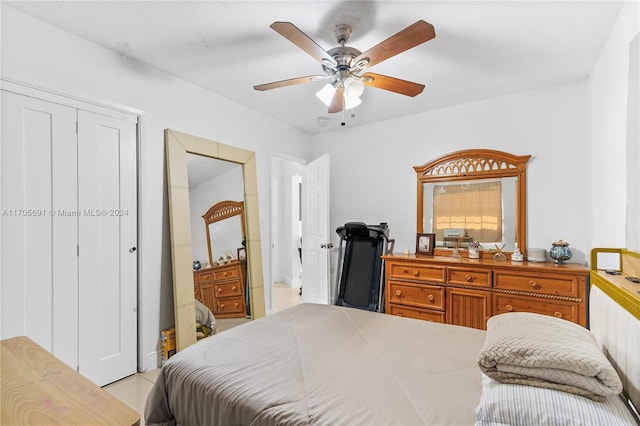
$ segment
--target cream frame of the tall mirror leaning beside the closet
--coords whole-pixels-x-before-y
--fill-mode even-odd
[[[252,151],[180,133],[172,129],[165,129],[164,137],[167,159],[176,350],[181,351],[197,340],[187,153],[242,165],[246,213],[247,277],[250,285],[249,302],[253,319],[266,315],[256,156]]]

